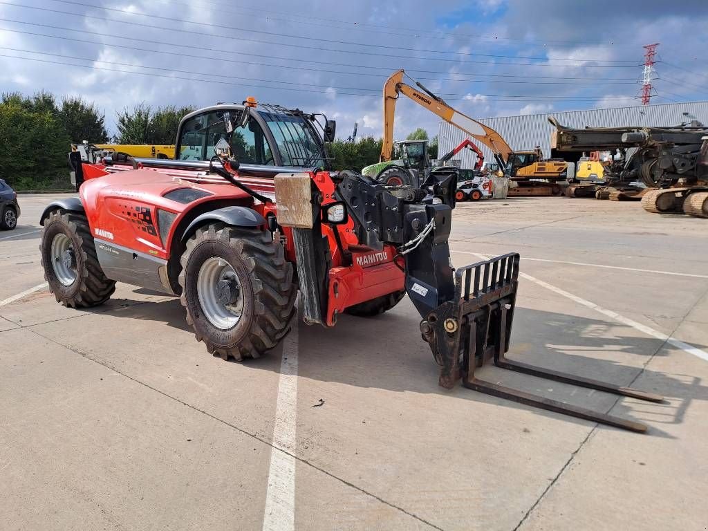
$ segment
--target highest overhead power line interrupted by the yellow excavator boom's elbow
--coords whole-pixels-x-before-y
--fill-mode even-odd
[[[0,19],[1,20],[1,19]],[[105,42],[101,42],[98,40],[88,40],[88,39],[76,39],[76,38],[71,38],[71,37],[63,37],[63,36],[58,36],[58,35],[49,35],[46,33],[35,33],[35,32],[30,32],[30,31],[21,31],[21,30],[8,30],[7,28],[0,28],[0,31],[7,31],[7,32],[12,32],[12,33],[20,33],[22,35],[32,35],[33,37],[45,37],[45,38],[52,38],[52,39],[57,39],[57,40],[67,40],[67,41],[72,41],[72,42],[83,42],[85,44],[93,44],[93,45],[99,45],[101,47],[108,47],[108,48],[119,48],[122,50],[135,50],[137,52],[151,52],[151,53],[156,53],[160,55],[171,55],[174,57],[181,57],[181,58],[193,58],[193,59],[211,59],[215,60],[214,57],[209,57],[205,55],[193,55],[193,54],[188,54],[184,52],[166,52],[164,50],[153,50],[145,47],[137,47],[137,46],[128,46],[128,45],[118,45],[118,44],[107,44]],[[190,47],[190,48],[197,48],[197,47]],[[204,48],[200,47],[200,50],[204,50]],[[92,60],[92,59],[88,59]],[[356,76],[370,76],[370,77],[376,77],[378,79],[382,79],[384,74],[381,73],[369,73],[369,72],[351,72],[351,71],[343,71],[343,70],[328,70],[328,69],[316,69],[316,68],[309,68],[309,67],[302,67],[302,66],[291,66],[291,65],[283,65],[283,64],[270,64],[270,63],[264,63],[264,62],[253,62],[253,61],[243,61],[240,59],[227,59],[225,57],[219,57],[218,59],[219,62],[229,62],[229,63],[236,63],[236,64],[251,64],[253,66],[258,66],[258,67],[270,67],[270,68],[285,68],[285,69],[290,69],[290,70],[295,70],[295,71],[309,71],[309,72],[319,72],[319,73],[326,73],[326,74],[344,74],[344,75],[356,75]],[[414,72],[414,71],[411,71]],[[441,72],[442,73],[442,72]],[[577,81],[577,80],[572,80],[572,81],[564,81],[564,78],[553,78],[554,81],[529,81],[528,79],[522,79],[522,80],[508,80],[508,79],[486,79],[485,74],[480,74],[481,76],[484,77],[484,79],[450,79],[450,78],[437,78],[437,77],[425,77],[425,76],[418,76],[418,79],[421,81],[445,81],[445,82],[450,82],[450,83],[492,83],[492,84],[533,84],[533,85],[597,85],[598,80],[595,79],[594,81]],[[503,75],[503,74],[499,74]],[[517,76],[519,77],[519,76]],[[560,81],[559,81],[560,80]],[[612,81],[612,82],[609,82]],[[604,83],[605,85],[635,85],[636,81],[615,81],[614,79],[611,80],[606,80]]]

